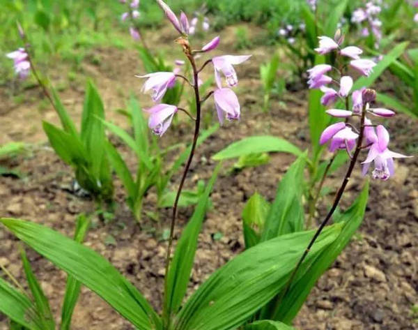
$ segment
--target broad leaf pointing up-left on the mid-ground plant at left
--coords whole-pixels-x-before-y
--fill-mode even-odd
[[[52,148],[65,163],[87,166],[86,161],[89,158],[78,139],[47,121],[43,121],[42,126]]]

